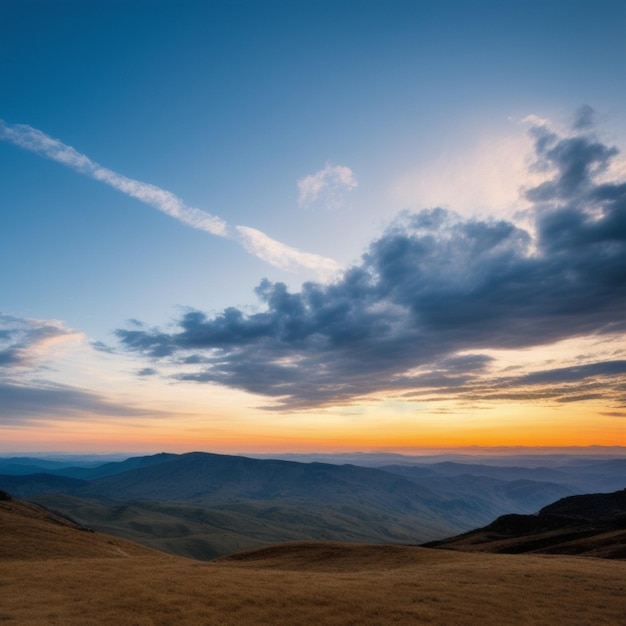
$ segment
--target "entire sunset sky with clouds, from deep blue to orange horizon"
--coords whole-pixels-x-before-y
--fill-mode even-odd
[[[626,446],[626,6],[0,3],[0,454]]]

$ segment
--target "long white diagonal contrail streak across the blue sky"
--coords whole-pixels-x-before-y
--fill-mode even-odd
[[[178,196],[149,183],[143,183],[102,167],[88,156],[71,146],[54,139],[36,128],[25,124],[7,124],[0,119],[0,139],[20,148],[30,150],[47,159],[61,163],[75,172],[95,178],[118,191],[166,213],[187,226],[203,230],[217,237],[237,241],[243,248],[259,259],[283,270],[307,269],[320,278],[329,279],[341,271],[341,266],[327,257],[301,252],[265,233],[247,226],[229,225],[220,217],[202,209],[187,206]]]

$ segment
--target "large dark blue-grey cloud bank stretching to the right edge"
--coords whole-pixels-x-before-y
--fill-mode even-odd
[[[595,182],[617,150],[584,134],[532,132],[537,168],[552,174],[526,191],[535,236],[509,221],[443,209],[404,213],[333,284],[290,293],[264,280],[256,290],[262,312],[189,311],[175,332],[134,324],[117,336],[130,351],[178,364],[181,380],[245,389],[293,409],[388,390],[462,395],[484,381],[489,359],[481,350],[621,333],[626,184]],[[535,373],[507,379],[508,389],[541,395],[531,388],[577,375],[601,386],[603,378],[614,382],[613,367]]]

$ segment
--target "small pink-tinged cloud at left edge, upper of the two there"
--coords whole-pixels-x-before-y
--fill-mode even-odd
[[[82,337],[56,320],[0,313],[0,368],[33,367],[55,346]]]

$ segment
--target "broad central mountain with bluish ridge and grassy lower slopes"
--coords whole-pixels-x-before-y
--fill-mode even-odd
[[[31,499],[98,530],[201,559],[285,540],[417,543],[458,532],[450,520],[471,518],[466,502],[376,469],[206,453]]]

